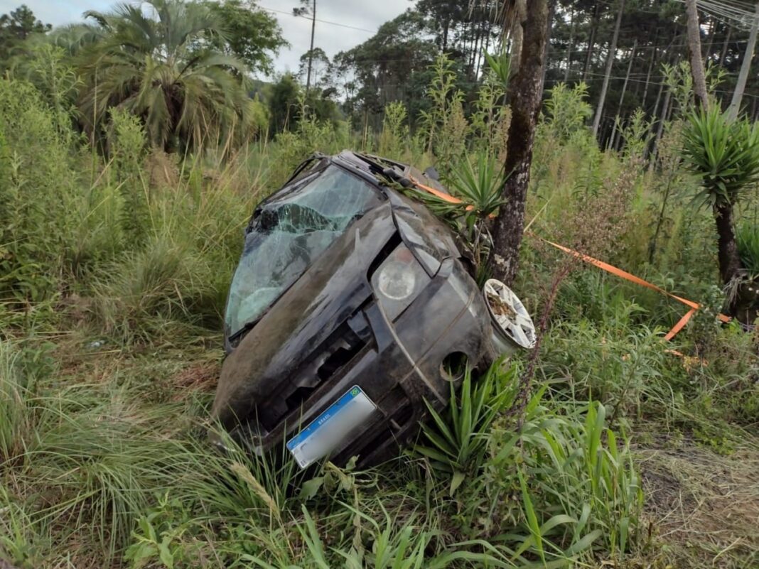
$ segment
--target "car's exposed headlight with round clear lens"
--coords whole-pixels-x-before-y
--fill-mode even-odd
[[[372,275],[383,312],[395,320],[430,282],[430,275],[405,245],[399,245]]]

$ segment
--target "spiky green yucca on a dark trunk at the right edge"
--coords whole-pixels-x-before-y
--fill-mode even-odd
[[[713,105],[693,112],[683,132],[685,167],[701,178],[696,200],[711,206],[718,234],[720,275],[727,284],[742,275],[733,208],[759,181],[759,130],[732,121]]]

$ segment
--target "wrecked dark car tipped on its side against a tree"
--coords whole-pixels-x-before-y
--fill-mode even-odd
[[[387,181],[445,191],[386,159],[316,155],[250,219],[212,413],[258,453],[376,464],[417,435],[425,400],[446,407],[452,363],[534,344],[511,291],[483,294],[453,232]]]

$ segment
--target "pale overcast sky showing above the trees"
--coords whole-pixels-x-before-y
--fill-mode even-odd
[[[110,0],[0,0],[0,14],[26,4],[40,20],[58,26],[81,20],[81,14],[87,10],[107,10],[113,3]],[[292,15],[298,0],[258,0],[257,3],[272,11],[282,27],[282,35],[291,44],[290,49],[282,49],[276,58],[276,70],[298,71],[298,60],[308,51],[311,20]],[[369,39],[380,24],[411,5],[410,0],[317,0],[314,46],[332,57]]]

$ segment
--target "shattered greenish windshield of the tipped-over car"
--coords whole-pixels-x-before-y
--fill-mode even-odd
[[[233,336],[254,322],[361,215],[379,195],[335,165],[301,186],[269,200],[258,212],[227,301],[226,327]]]

